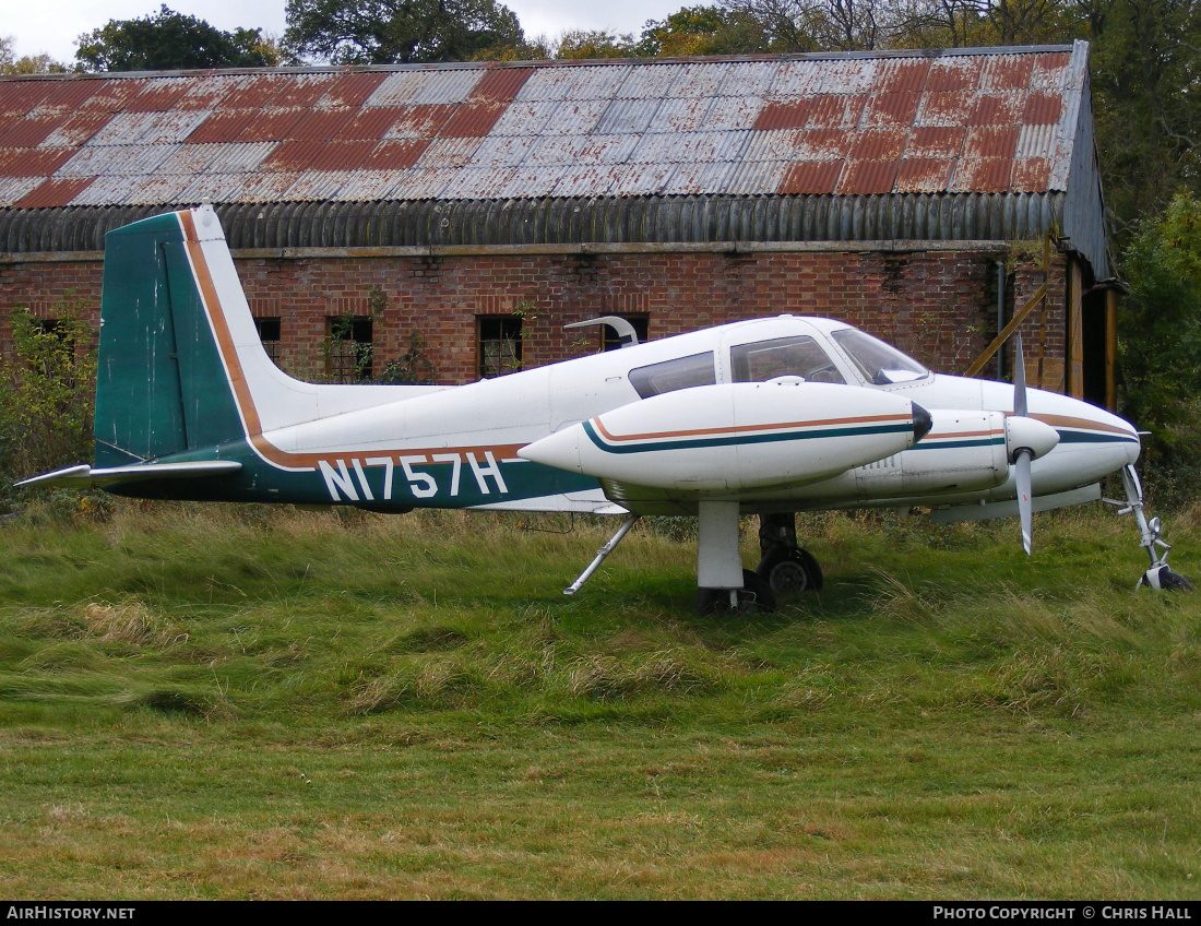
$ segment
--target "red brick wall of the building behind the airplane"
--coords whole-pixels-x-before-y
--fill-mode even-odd
[[[319,377],[325,318],[377,311],[376,370],[416,333],[440,382],[476,378],[476,318],[524,315],[526,366],[597,350],[599,330],[564,331],[602,315],[646,313],[664,337],[740,318],[791,312],[862,327],[936,370],[961,372],[996,333],[996,252],[763,251],[757,253],[471,255],[448,257],[240,258],[256,316],[281,318],[281,365]],[[1048,310],[1023,325],[1046,380],[1063,368],[1063,259],[1052,270]],[[8,315],[29,306],[54,317],[64,295],[92,313],[101,263],[0,263],[0,346]],[[1021,306],[1042,281],[1028,263],[1010,268],[1006,303]],[[1062,380],[1060,380],[1062,381]],[[1036,380],[1032,377],[1032,384]],[[1054,387],[1053,382],[1046,384]]]

